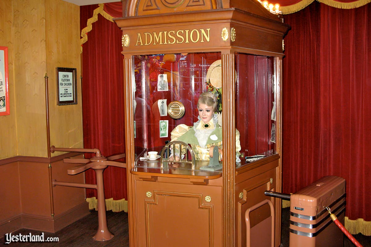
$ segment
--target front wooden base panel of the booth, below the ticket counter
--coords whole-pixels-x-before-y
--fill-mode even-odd
[[[221,246],[220,186],[140,179],[136,185],[139,246]]]

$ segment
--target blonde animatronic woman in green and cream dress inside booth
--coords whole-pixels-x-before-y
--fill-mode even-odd
[[[218,124],[216,111],[217,99],[213,93],[201,93],[198,98],[198,121],[193,126],[180,124],[171,131],[171,141],[183,141],[191,145],[196,159],[209,160],[213,157],[214,148],[219,149],[219,159],[223,148],[222,129]],[[236,129],[236,162],[241,162],[239,159],[241,145],[240,132]],[[182,148],[182,158],[185,154],[185,147]],[[174,160],[174,155],[171,154],[170,160]],[[179,150],[175,147],[175,160],[180,159]]]

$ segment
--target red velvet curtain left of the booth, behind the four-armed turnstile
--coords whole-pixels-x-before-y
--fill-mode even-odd
[[[98,5],[80,7],[81,29]],[[122,32],[98,14],[88,41],[82,45],[82,101],[84,147],[98,148],[102,155],[125,152],[124,75]],[[88,157],[90,158],[90,157]],[[104,173],[105,197],[127,198],[126,169],[108,167]],[[85,172],[86,183],[95,184],[95,172]],[[95,190],[86,190],[88,198]]]

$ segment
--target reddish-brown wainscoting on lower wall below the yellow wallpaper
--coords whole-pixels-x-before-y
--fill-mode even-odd
[[[68,175],[63,158],[16,156],[0,160],[0,236],[20,228],[55,233],[89,214],[85,189],[52,186],[52,181],[84,183],[84,174]]]

